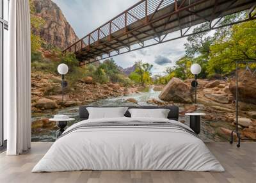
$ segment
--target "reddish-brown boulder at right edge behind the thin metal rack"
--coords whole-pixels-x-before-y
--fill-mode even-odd
[[[256,77],[244,70],[238,71],[238,94],[239,101],[256,104]],[[236,77],[230,81],[230,92],[236,97]]]

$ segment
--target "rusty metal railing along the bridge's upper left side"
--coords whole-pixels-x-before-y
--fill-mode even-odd
[[[179,0],[142,0],[95,29],[92,33],[74,42],[63,52],[77,52],[82,49],[90,49],[90,46],[100,44],[102,38],[111,40],[113,33],[116,31],[121,30],[125,33],[127,26],[136,21],[144,21],[147,24],[147,22],[153,19],[157,10],[161,10],[172,3],[177,4],[177,1]]]

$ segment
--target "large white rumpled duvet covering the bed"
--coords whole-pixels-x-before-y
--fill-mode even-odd
[[[90,122],[171,122],[160,118],[107,118]],[[186,131],[165,127],[77,129],[57,139],[32,172],[73,170],[225,171],[204,142]]]

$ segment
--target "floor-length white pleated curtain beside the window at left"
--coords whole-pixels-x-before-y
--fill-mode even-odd
[[[4,120],[8,155],[31,145],[31,42],[29,0],[10,1],[9,60],[4,63]]]

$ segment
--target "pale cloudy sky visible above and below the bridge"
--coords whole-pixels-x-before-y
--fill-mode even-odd
[[[139,0],[53,1],[58,4],[77,36],[81,38]],[[142,60],[154,65],[153,74],[163,74],[166,67],[172,67],[175,65],[175,61],[184,55],[184,43],[186,43],[186,38],[121,54],[113,59],[123,68],[131,67],[135,61]]]

